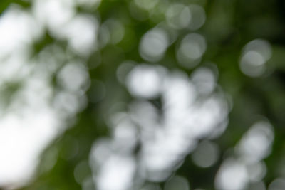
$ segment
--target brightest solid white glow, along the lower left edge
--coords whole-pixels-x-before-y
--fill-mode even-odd
[[[0,185],[21,186],[31,179],[41,151],[58,134],[61,120],[50,98],[48,83],[32,76],[15,95],[11,110],[1,116]]]

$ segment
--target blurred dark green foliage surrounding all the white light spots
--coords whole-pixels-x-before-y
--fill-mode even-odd
[[[175,169],[172,176],[177,175],[187,179],[190,189],[217,189],[214,181],[223,161],[227,157],[236,157],[234,147],[249,130],[249,127],[258,120],[268,120],[274,129],[274,141],[271,153],[263,159],[266,164],[266,174],[261,181],[267,189],[274,179],[285,178],[284,1],[157,1],[159,3],[151,10],[140,9],[140,7],[132,9],[134,1],[127,0],[103,0],[97,8],[76,7],[76,14],[90,14],[98,18],[99,26],[108,19],[117,19],[123,23],[125,33],[120,42],[108,43],[102,48],[92,51],[90,56],[72,54],[72,59],[85,62],[90,81],[100,81],[104,84],[104,88],[102,90],[100,84],[95,82],[91,84],[94,84],[95,94],[91,90],[93,88],[86,91],[86,97],[88,97],[86,107],[73,118],[68,118],[66,123],[69,127],[67,130],[43,150],[33,179],[19,189],[96,189],[96,184],[88,184],[88,182],[85,183],[86,187],[83,187],[83,181],[88,181],[88,179],[92,181],[94,173],[90,169],[90,149],[97,139],[110,137],[112,134],[112,130],[105,122],[106,113],[110,107],[117,102],[131,102],[134,98],[118,81],[118,68],[125,60],[132,60],[135,64],[147,63],[147,60],[140,55],[140,39],[147,31],[165,21],[167,5],[174,3],[202,6],[207,19],[204,25],[197,30],[177,29],[177,38],[167,48],[163,58],[148,64],[161,65],[167,70],[182,70],[187,75],[191,75],[193,70],[201,66],[214,68],[218,73],[217,85],[223,89],[227,95],[227,101],[232,106],[229,110],[227,129],[220,137],[212,140],[219,146],[217,162],[211,167],[202,168],[193,162],[192,154],[187,154],[184,162]],[[1,1],[0,11],[4,14],[6,9],[11,6],[19,6],[29,11],[32,5],[33,1]],[[175,55],[181,39],[187,33],[192,32],[204,36],[207,40],[207,50],[199,65],[185,68],[178,63]],[[56,44],[63,49],[68,48],[67,41],[55,38],[48,29],[45,33],[43,38],[33,44],[31,60],[36,59],[38,54],[51,44]],[[98,37],[99,42],[102,39],[102,36]],[[253,77],[245,74],[240,69],[239,63],[244,46],[256,39],[268,41],[272,54],[266,62],[266,71],[262,75]],[[57,83],[56,74],[50,81],[55,92],[61,88]],[[6,107],[9,107],[9,102],[13,102],[13,94],[19,88],[21,88],[21,81],[9,83],[5,88],[0,89],[1,98],[4,98],[1,101],[5,102]],[[104,93],[100,94],[103,91]],[[160,107],[160,98],[148,101]],[[199,141],[202,142],[202,139]],[[76,149],[76,154],[74,154],[74,149]],[[138,146],[137,152],[133,152],[135,156],[139,149]],[[51,160],[53,164],[50,164]],[[75,170],[78,176],[75,176]],[[152,184],[155,184],[158,189],[166,189],[167,180],[143,182],[145,186]],[[254,189],[253,186],[254,183],[249,184],[245,189]],[[272,185],[270,190],[274,190]]]

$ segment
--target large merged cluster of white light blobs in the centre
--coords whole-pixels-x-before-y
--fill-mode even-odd
[[[113,143],[105,149],[113,150],[114,156],[120,156],[129,154],[129,150],[140,142],[138,175],[133,177],[138,181],[165,181],[182,164],[185,156],[197,147],[198,139],[217,137],[224,131],[227,127],[227,103],[214,90],[208,92],[209,96],[197,97],[197,89],[202,88],[203,83],[194,85],[186,73],[168,73],[160,66],[133,64],[120,71],[124,73],[134,67],[128,74],[126,85],[135,100],[127,106],[127,112],[119,110],[110,117],[108,124],[113,129],[110,142]],[[197,82],[199,78],[195,77],[195,80]],[[162,101],[148,100],[155,101],[156,97],[162,97]],[[126,141],[128,144],[124,143]],[[203,157],[199,162],[202,167],[212,166],[218,158],[217,149],[209,144],[206,143],[202,155],[199,154]],[[105,154],[103,149],[102,154]],[[100,153],[96,155],[100,157]],[[110,157],[112,153],[107,155]],[[105,160],[100,157],[94,164],[103,168]],[[94,176],[98,177],[98,172],[94,171]]]

